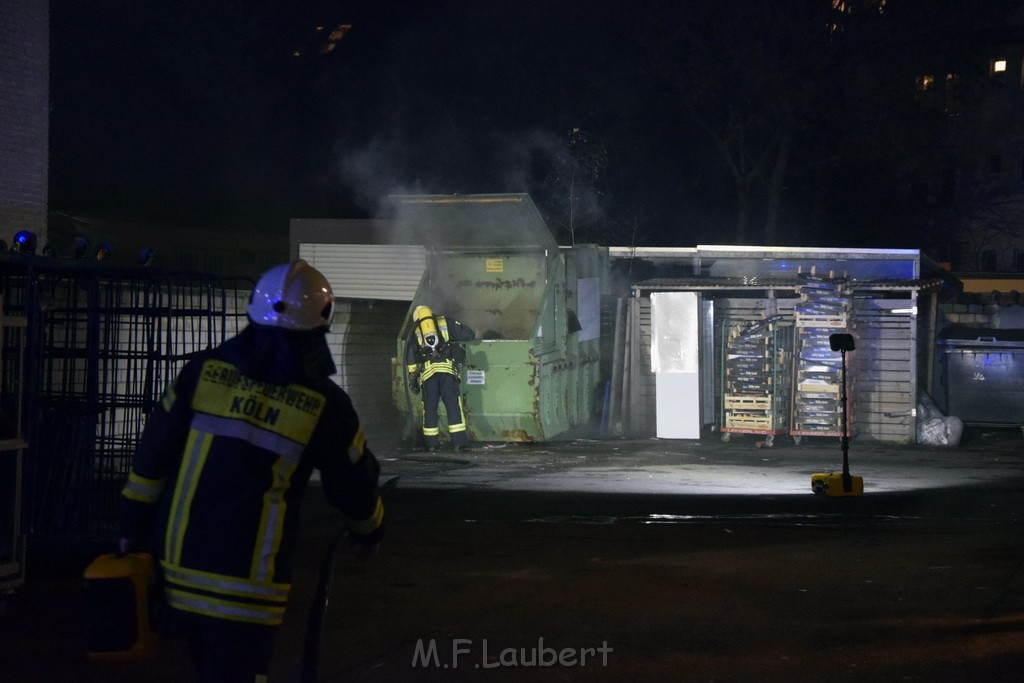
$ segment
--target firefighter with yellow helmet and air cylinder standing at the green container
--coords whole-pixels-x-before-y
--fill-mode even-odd
[[[434,315],[427,306],[413,310],[413,331],[406,341],[406,370],[413,393],[423,390],[423,440],[428,451],[437,449],[437,404],[444,403],[449,435],[456,451],[469,445],[466,416],[459,390],[459,369],[466,360],[466,349],[458,342],[476,337],[473,329],[459,321]]]

